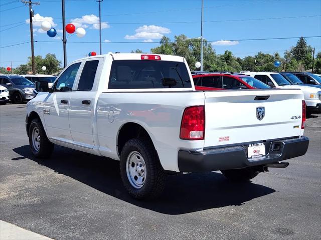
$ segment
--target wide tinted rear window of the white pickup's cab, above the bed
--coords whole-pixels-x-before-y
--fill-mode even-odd
[[[112,62],[109,89],[191,88],[186,65],[153,60]]]

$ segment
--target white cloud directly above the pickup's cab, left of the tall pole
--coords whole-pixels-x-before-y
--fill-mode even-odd
[[[152,39],[161,39],[164,34],[171,33],[171,30],[168,28],[155,26],[155,25],[144,25],[135,30],[134,35],[126,35],[125,39],[133,40],[133,39],[146,39],[148,41],[152,41]]]

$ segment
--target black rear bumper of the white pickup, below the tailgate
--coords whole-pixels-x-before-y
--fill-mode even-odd
[[[272,150],[278,144],[279,150]],[[178,165],[180,172],[207,172],[244,168],[278,162],[306,153],[309,145],[307,137],[297,137],[265,142],[266,156],[249,160],[247,148],[232,146],[206,149],[203,151],[179,150]]]

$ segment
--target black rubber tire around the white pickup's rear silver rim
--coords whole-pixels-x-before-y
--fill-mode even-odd
[[[127,176],[127,158],[132,152],[138,152],[145,163],[145,180],[141,188],[135,188],[130,183],[130,176]],[[129,194],[136,199],[150,200],[162,194],[166,173],[159,163],[156,150],[148,140],[134,138],[128,140],[120,155],[120,175],[122,182]]]

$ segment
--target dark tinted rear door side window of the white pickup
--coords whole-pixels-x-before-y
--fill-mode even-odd
[[[94,81],[95,81],[98,63],[99,63],[98,60],[87,61],[85,63],[85,66],[82,70],[82,73],[79,79],[77,90],[90,91],[92,89],[92,86],[94,85]]]

